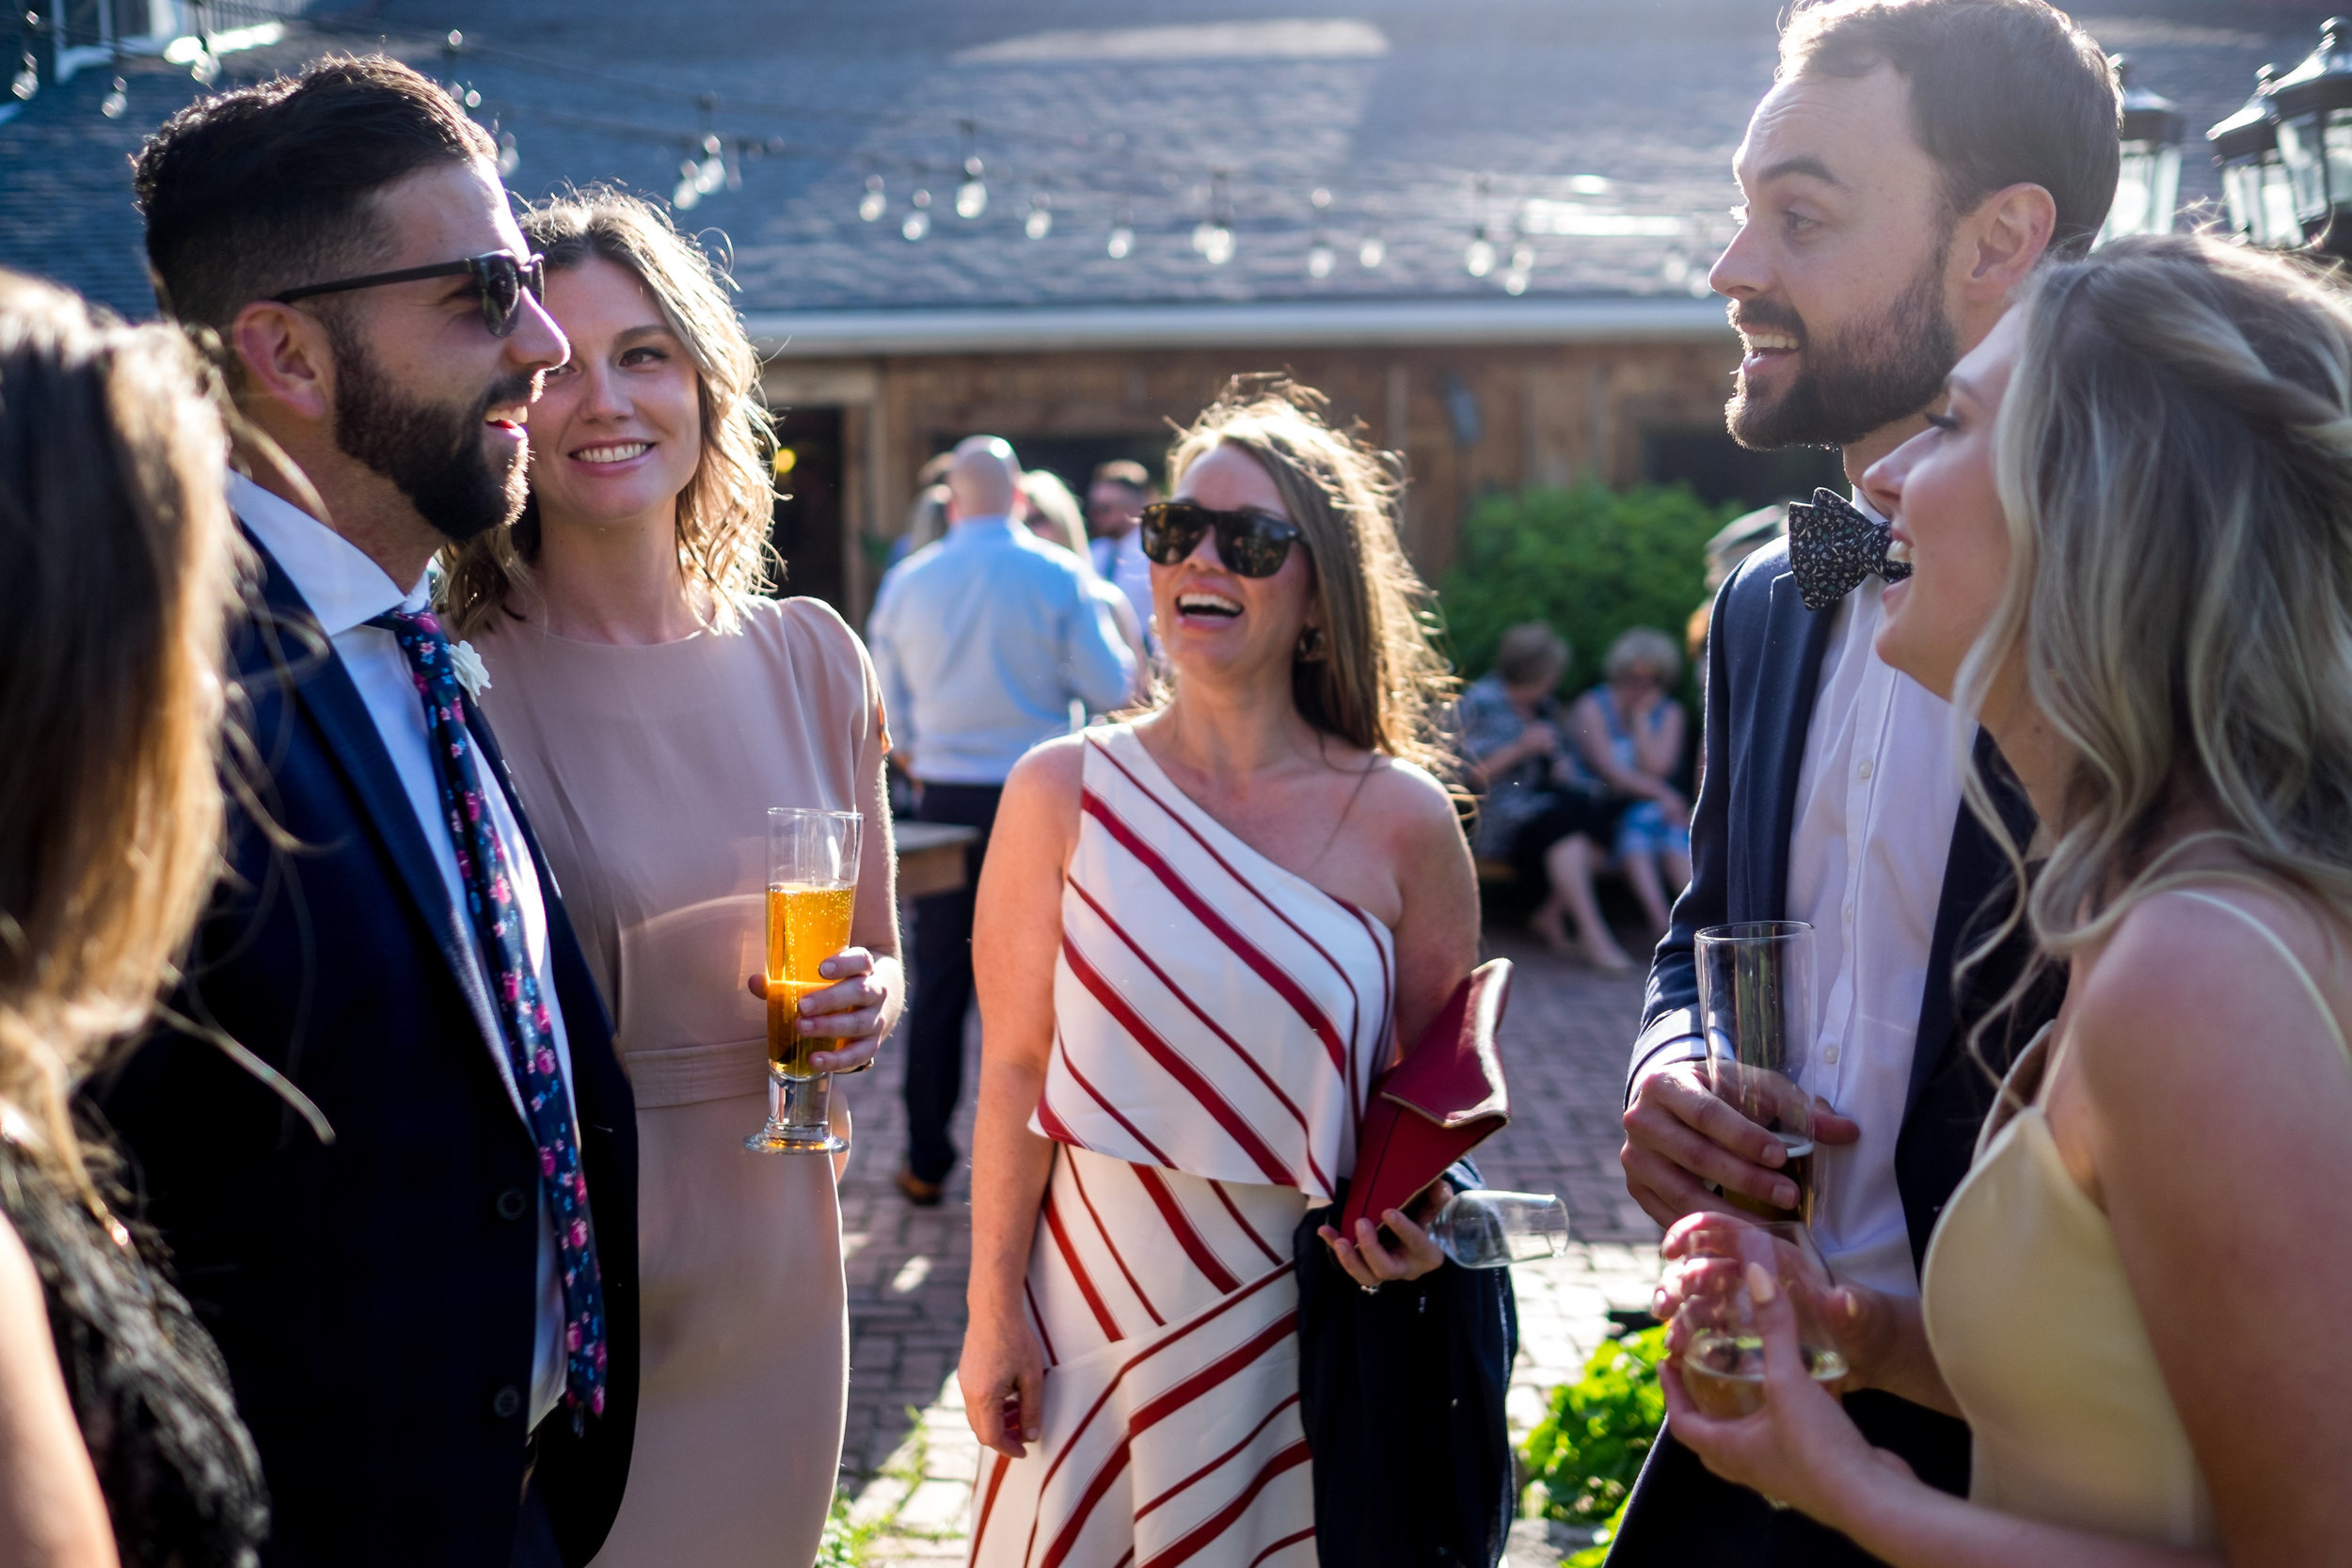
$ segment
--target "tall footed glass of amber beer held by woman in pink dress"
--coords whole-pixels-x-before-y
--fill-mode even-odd
[[[743,1140],[769,1154],[847,1150],[833,1135],[833,1074],[809,1056],[840,1041],[802,1034],[800,999],[833,980],[818,964],[849,945],[858,903],[856,811],[776,806],[767,813],[767,1126]]]

